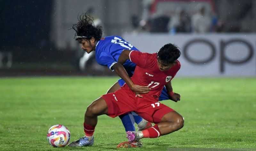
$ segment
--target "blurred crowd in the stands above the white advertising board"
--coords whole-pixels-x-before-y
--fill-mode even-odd
[[[132,16],[132,25],[171,34],[255,32],[255,6],[252,0],[145,1],[147,15],[140,22]]]

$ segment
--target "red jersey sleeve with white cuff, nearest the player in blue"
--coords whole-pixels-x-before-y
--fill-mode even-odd
[[[148,53],[132,50],[129,54],[130,60],[139,67],[145,67],[147,64]]]

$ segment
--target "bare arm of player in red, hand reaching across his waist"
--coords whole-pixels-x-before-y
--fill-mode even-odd
[[[150,91],[150,88],[148,86],[139,86],[133,84],[131,78],[128,76],[127,72],[124,69],[124,62],[129,58],[131,50],[124,50],[120,57],[118,58],[118,62],[113,65],[113,69],[115,69],[116,73],[124,79],[126,84],[130,87],[130,89],[137,94],[138,97],[142,97],[140,94],[147,94]]]

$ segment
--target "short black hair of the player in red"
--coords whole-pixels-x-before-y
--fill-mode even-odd
[[[175,61],[180,57],[180,49],[172,43],[165,44],[157,52],[157,57],[163,65],[168,65],[175,63]]]

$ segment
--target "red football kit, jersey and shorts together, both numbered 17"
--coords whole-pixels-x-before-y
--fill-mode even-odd
[[[157,64],[157,54],[131,51],[130,60],[136,64],[132,81],[136,85],[151,88],[143,98],[136,97],[135,93],[126,85],[113,93],[102,95],[108,106],[108,116],[117,117],[134,111],[151,123],[159,123],[164,115],[173,111],[168,106],[157,102],[160,93],[180,69],[178,61],[168,71],[161,71]]]

